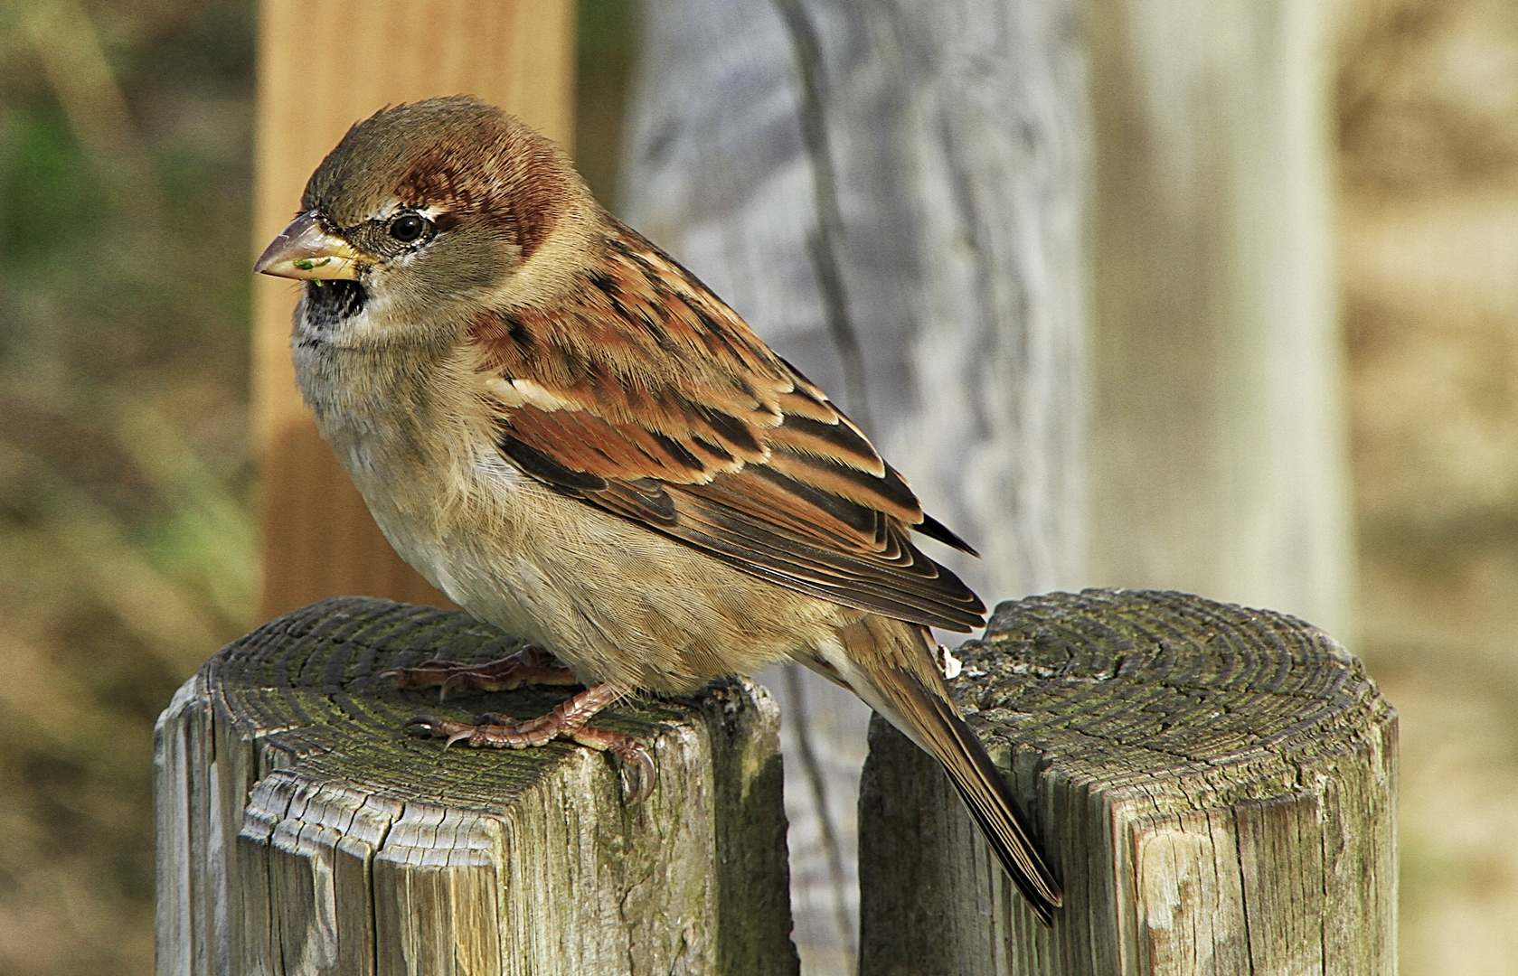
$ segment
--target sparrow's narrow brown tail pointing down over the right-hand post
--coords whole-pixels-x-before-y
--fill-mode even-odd
[[[835,675],[893,726],[943,763],[981,833],[1044,924],[1063,896],[1032,844],[1006,782],[949,698],[926,627],[865,616],[838,631],[846,654],[827,660]],[[839,666],[841,665],[841,666]],[[864,688],[862,688],[864,685]]]

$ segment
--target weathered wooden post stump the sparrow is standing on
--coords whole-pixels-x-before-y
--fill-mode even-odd
[[[768,697],[735,682],[598,716],[654,754],[630,808],[603,753],[401,729],[562,692],[439,706],[370,677],[518,647],[458,612],[343,598],[213,657],[156,733],[159,976],[794,974]]]

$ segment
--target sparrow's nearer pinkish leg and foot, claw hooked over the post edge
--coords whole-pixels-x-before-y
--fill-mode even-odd
[[[631,779],[633,800],[642,803],[654,788],[654,760],[648,754],[648,748],[631,736],[592,729],[587,724],[597,712],[621,695],[621,689],[603,682],[559,703],[553,712],[537,718],[516,721],[510,715],[486,712],[477,724],[469,726],[434,715],[417,715],[405,726],[407,729],[424,729],[434,739],[446,739],[443,748],[454,742],[475,748],[530,748],[563,738],[597,751],[612,751],[622,760],[622,768]]]

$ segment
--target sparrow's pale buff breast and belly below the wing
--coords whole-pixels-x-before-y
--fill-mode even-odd
[[[559,495],[499,455],[486,401],[465,393],[469,384],[431,389],[442,402],[427,413],[454,428],[446,434],[370,436],[413,427],[417,414],[404,408],[366,422],[319,410],[322,434],[402,559],[581,678],[694,691],[788,657],[832,656],[823,648],[836,644],[836,628],[862,616]]]

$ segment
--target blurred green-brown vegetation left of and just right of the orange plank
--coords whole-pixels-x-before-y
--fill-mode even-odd
[[[615,194],[630,2],[584,0]],[[250,624],[255,5],[0,0],[0,973],[152,971],[152,729]]]

